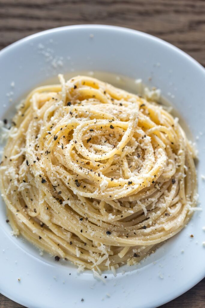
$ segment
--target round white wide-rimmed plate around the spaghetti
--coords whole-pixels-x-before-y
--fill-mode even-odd
[[[0,52],[0,67],[2,118],[11,116],[12,106],[29,90],[60,72],[76,75],[81,71],[104,71],[141,78],[148,86],[159,87],[197,139],[199,200],[203,206],[205,70],[190,56],[138,31],[81,25],[37,33],[6,47]],[[115,77],[111,79],[116,83]],[[28,242],[12,237],[1,201],[0,292],[29,308],[154,308],[184,293],[205,276],[203,225],[205,212],[196,212],[182,232],[139,267],[125,268],[125,273],[120,268],[116,277],[107,273],[103,284],[89,271],[79,275],[74,266],[40,256]]]

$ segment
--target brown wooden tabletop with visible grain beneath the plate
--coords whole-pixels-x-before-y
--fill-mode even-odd
[[[0,0],[0,49],[45,29],[88,23],[153,34],[205,66],[205,0]],[[0,308],[19,307],[0,294]],[[183,307],[205,307],[205,279],[161,306]]]

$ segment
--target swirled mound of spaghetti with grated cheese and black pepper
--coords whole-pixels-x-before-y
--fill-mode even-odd
[[[191,145],[159,104],[77,76],[32,91],[1,164],[14,234],[80,270],[139,262],[196,203]]]

